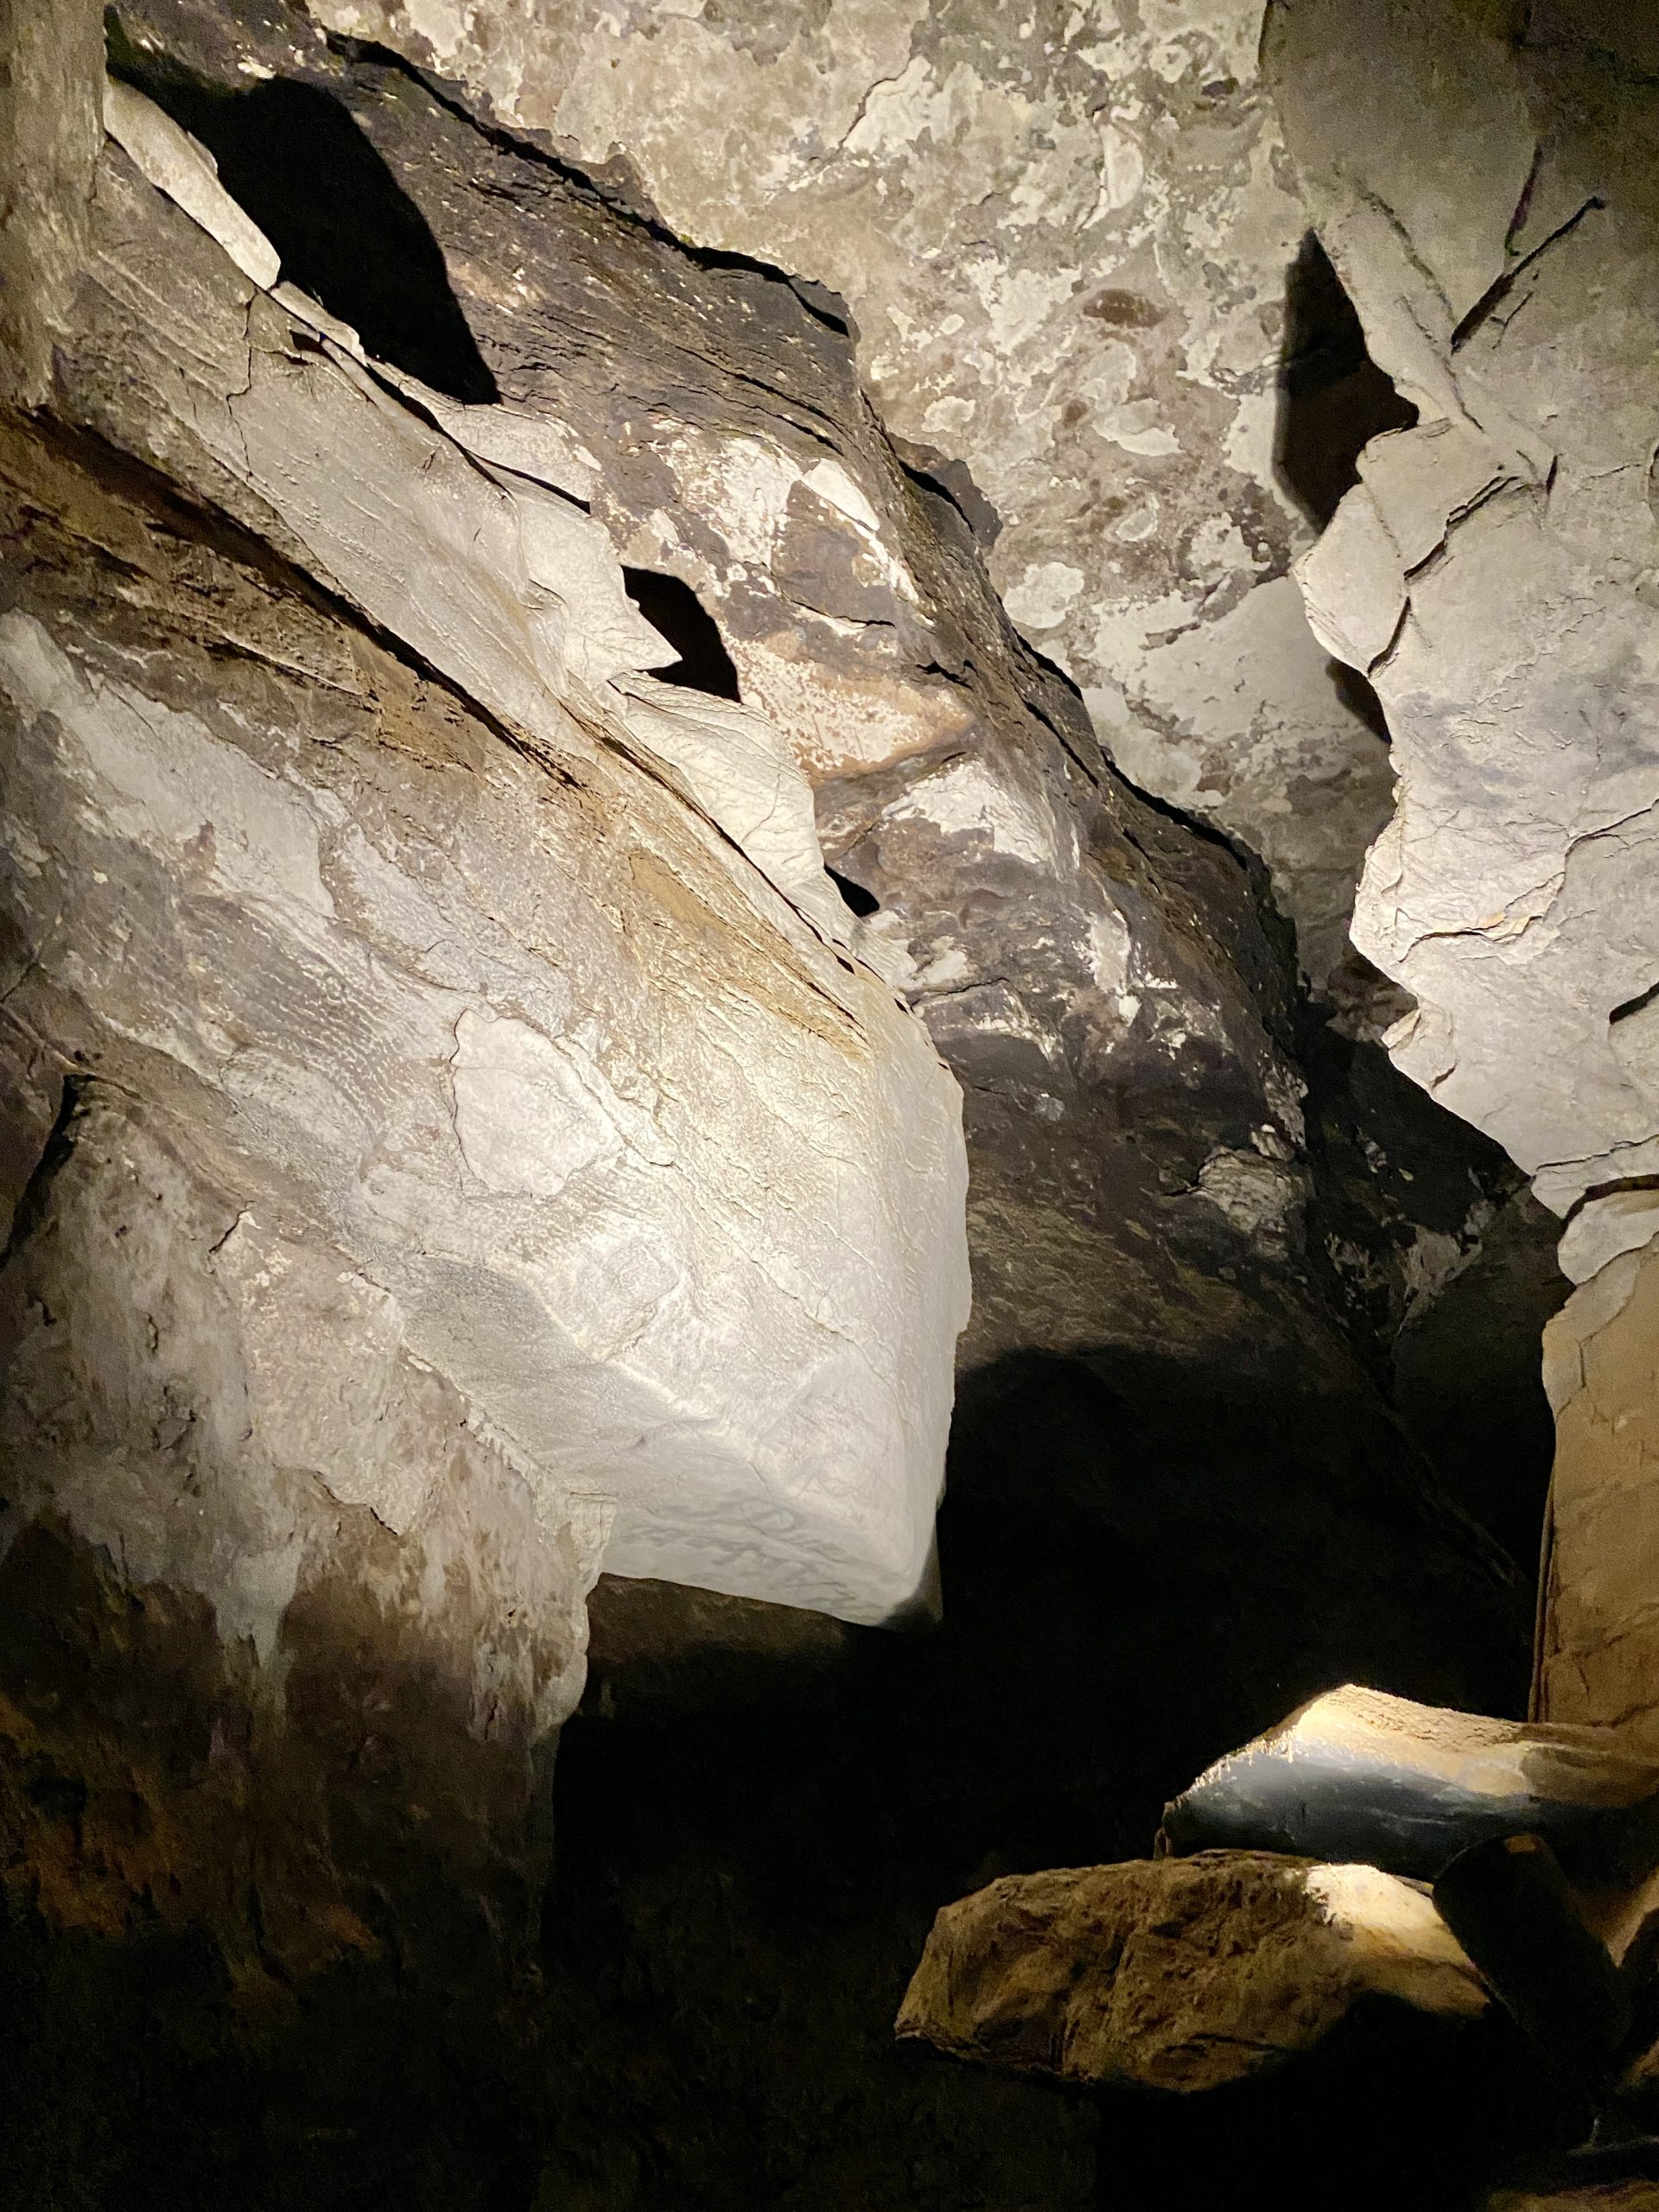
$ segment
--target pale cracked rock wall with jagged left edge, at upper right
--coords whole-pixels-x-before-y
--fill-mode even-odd
[[[1279,0],[1265,40],[1321,237],[1420,409],[1301,566],[1400,776],[1356,942],[1418,1000],[1398,1064],[1557,1212],[1659,1159],[1659,102],[1601,31]]]

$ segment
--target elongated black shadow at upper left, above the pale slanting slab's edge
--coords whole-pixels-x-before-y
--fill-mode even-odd
[[[420,208],[330,93],[288,77],[223,91],[111,22],[111,66],[201,139],[219,181],[281,254],[283,279],[376,361],[453,400],[500,398]]]

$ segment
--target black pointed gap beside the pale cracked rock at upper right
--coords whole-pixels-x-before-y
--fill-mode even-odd
[[[1402,400],[1365,349],[1343,279],[1310,230],[1285,276],[1285,349],[1279,365],[1274,476],[1321,529],[1358,484],[1358,458],[1387,429],[1409,429]]]

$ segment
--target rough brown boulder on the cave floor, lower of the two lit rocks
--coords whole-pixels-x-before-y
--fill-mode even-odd
[[[898,2033],[1020,2073],[1192,2093],[1314,2048],[1367,1997],[1451,2020],[1486,2006],[1420,1887],[1206,1851],[1004,1876],[947,1905]]]

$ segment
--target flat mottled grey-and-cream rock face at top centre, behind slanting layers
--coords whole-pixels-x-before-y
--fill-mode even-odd
[[[841,294],[889,427],[967,462],[1000,518],[1013,619],[1128,774],[1270,863],[1323,980],[1389,763],[1285,582],[1307,542],[1279,378],[1305,215],[1259,0],[314,13],[611,164],[699,246]],[[787,668],[765,675],[785,697]]]

